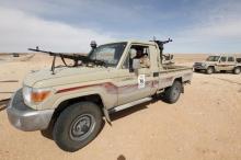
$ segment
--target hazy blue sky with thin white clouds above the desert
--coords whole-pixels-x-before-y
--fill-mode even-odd
[[[156,36],[165,53],[241,53],[241,0],[0,0],[0,52]]]

